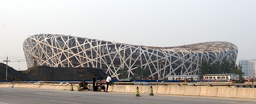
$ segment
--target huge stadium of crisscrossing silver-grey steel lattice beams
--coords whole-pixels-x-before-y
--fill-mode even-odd
[[[57,34],[29,36],[23,43],[28,68],[50,67],[101,68],[118,78],[125,68],[128,76],[138,66],[150,69],[150,77],[198,74],[202,61],[236,61],[237,47],[229,42],[205,42],[174,47],[150,47]]]

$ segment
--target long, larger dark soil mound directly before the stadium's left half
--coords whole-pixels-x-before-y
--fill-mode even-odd
[[[107,76],[101,69],[98,68],[61,68],[48,66],[34,66],[24,71],[20,71],[26,76],[26,80],[42,80],[47,76],[47,80],[85,80],[92,79],[97,75],[97,79],[103,79]]]

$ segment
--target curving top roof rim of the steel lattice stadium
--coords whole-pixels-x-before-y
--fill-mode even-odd
[[[69,36],[69,37],[77,37],[77,36],[70,36],[70,35],[59,35],[59,34],[36,34],[29,36],[28,38],[31,38],[33,36],[39,36],[39,35],[55,35],[55,36]],[[87,38],[87,37],[78,37],[78,38]],[[92,38],[87,38],[92,39]],[[98,39],[93,39],[98,40]],[[183,52],[220,52],[220,51],[228,51],[230,48],[235,48],[237,51],[237,47],[235,44],[232,44],[230,42],[225,41],[211,41],[211,42],[204,42],[204,43],[196,43],[196,44],[187,44],[187,45],[181,45],[181,46],[169,46],[169,47],[156,47],[156,46],[144,46],[144,45],[132,45],[132,44],[124,44],[124,43],[117,43],[117,42],[109,42],[105,40],[100,40],[108,43],[113,44],[123,44],[123,45],[131,45],[141,48],[151,48],[151,49],[164,49],[164,50],[176,50],[176,51],[183,51]]]

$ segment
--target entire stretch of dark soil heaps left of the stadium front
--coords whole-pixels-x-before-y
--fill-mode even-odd
[[[6,64],[0,63],[0,80],[5,80]],[[8,67],[8,80],[12,80],[16,76],[16,81],[25,80],[88,80],[97,75],[97,80],[104,79],[107,74],[98,68],[61,68],[48,66],[34,66],[24,71],[17,71],[12,67]]]

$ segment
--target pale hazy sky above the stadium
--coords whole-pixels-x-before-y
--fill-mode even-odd
[[[24,57],[23,41],[43,33],[147,46],[227,41],[237,46],[237,61],[249,60],[256,58],[256,0],[0,1],[0,56]]]

